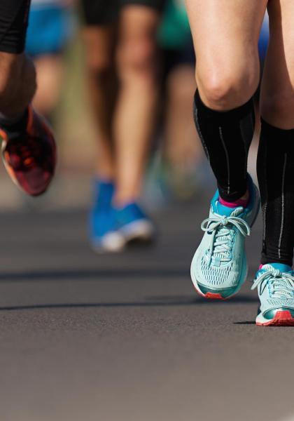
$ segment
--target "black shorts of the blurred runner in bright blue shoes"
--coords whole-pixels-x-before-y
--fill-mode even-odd
[[[118,20],[124,6],[146,6],[162,11],[165,0],[81,0],[81,4],[87,25],[107,25]]]

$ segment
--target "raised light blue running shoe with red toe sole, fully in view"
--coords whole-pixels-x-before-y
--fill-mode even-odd
[[[191,264],[191,277],[200,295],[225,300],[235,295],[246,280],[248,266],[245,238],[259,208],[258,188],[248,175],[248,206],[228,208],[219,202],[218,190],[211,200],[209,218],[202,222],[203,239]]]

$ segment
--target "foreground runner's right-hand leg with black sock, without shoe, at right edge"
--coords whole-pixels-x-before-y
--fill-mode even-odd
[[[294,4],[269,1],[270,41],[261,89],[258,181],[262,263],[292,266],[294,247]]]

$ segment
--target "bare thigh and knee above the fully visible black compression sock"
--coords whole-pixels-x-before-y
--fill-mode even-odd
[[[259,82],[258,36],[267,0],[186,0],[205,105],[229,110]]]

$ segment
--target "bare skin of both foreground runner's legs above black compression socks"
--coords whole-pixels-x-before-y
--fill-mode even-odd
[[[186,0],[204,103],[219,111],[243,105],[260,80],[258,36],[268,6],[270,41],[260,95],[262,117],[294,127],[294,3],[287,0]],[[248,198],[248,192],[242,199]]]

